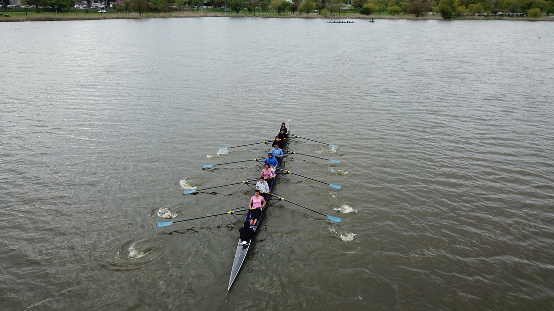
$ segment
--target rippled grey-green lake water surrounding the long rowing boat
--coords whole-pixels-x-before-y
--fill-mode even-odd
[[[554,309],[554,23],[0,23],[2,310]],[[539,39],[540,38],[540,39]],[[280,123],[296,175],[233,288]],[[213,192],[212,192],[213,191]],[[242,220],[243,216],[239,216]]]

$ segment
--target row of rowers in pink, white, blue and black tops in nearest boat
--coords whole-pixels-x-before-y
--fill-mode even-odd
[[[259,182],[256,183],[256,191],[248,203],[248,206],[250,206],[250,225],[252,226],[257,224],[261,216],[261,210],[265,207],[267,193],[269,193],[269,189],[273,185],[276,176],[275,171],[283,157],[282,148],[287,138],[287,133],[288,129],[285,127],[285,123],[281,123],[279,135],[275,136],[275,141],[271,144],[274,148],[271,149],[268,157],[264,160],[264,168],[261,170]],[[263,193],[263,195],[260,195],[260,193]],[[245,221],[244,225],[248,226],[248,221]]]

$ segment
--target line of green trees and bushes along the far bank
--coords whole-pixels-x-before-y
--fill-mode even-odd
[[[22,0],[23,4],[52,8],[54,12],[73,8],[73,0]],[[283,14],[335,15],[347,12],[360,14],[413,14],[420,17],[429,12],[438,13],[444,19],[464,15],[495,15],[499,12],[525,13],[528,17],[554,14],[554,0],[122,0],[118,11],[138,12],[170,9],[183,11],[188,8],[199,11],[203,6],[237,14],[245,10],[253,14],[275,12]],[[225,10],[227,11],[227,10]]]

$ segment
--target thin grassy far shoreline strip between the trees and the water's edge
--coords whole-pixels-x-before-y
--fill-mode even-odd
[[[19,12],[18,12],[19,13]],[[9,12],[3,14],[10,14]],[[359,13],[346,15],[322,16],[315,13],[311,14],[223,14],[218,12],[179,12],[179,13],[146,13],[139,15],[137,13],[95,13],[88,14],[73,12],[64,13],[32,13],[29,17],[25,16],[10,16],[0,17],[0,22],[50,22],[59,20],[103,20],[103,19],[151,19],[151,18],[197,18],[197,17],[231,17],[231,18],[306,18],[306,19],[361,19],[361,20],[379,20],[379,19],[408,19],[408,20],[444,20],[440,14],[427,14],[423,17],[415,15],[362,15]],[[452,18],[450,20],[524,20],[528,22],[554,22],[554,18],[540,17],[496,17],[496,16],[464,16],[460,18]]]

